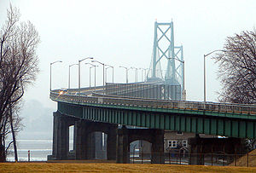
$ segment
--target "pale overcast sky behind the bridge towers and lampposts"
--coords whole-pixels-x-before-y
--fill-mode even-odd
[[[256,25],[256,1],[46,1],[0,0],[0,24],[9,2],[20,9],[21,20],[31,20],[41,37],[41,72],[26,91],[25,100],[37,100],[56,109],[49,100],[49,63],[52,88],[67,88],[68,65],[84,57],[114,66],[114,82],[125,83],[119,66],[148,68],[153,50],[154,21],[174,22],[175,45],[183,45],[187,100],[203,101],[203,55],[222,49],[225,38]],[[81,86],[89,86],[89,66],[82,63]],[[207,101],[217,101],[218,66],[207,59]],[[78,68],[72,67],[71,87],[78,87]],[[108,82],[111,71],[108,71]],[[102,66],[97,69],[102,84]],[[134,73],[129,73],[134,81]],[[138,79],[141,80],[140,73]]]

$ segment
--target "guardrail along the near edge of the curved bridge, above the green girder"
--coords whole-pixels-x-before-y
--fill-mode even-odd
[[[76,101],[88,103],[100,103],[108,105],[123,105],[134,107],[156,107],[169,109],[184,109],[195,111],[210,112],[230,112],[256,115],[256,105],[232,104],[232,103],[215,103],[199,101],[167,101],[152,100],[142,98],[111,97],[108,95],[85,96],[85,95],[68,95],[59,94],[59,89],[50,92],[50,98],[55,101]]]

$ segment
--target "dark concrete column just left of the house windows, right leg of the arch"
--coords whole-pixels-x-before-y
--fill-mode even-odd
[[[164,130],[154,130],[152,134],[152,164],[164,164]]]

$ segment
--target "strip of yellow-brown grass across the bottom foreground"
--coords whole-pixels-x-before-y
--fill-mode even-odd
[[[3,163],[0,172],[256,172],[256,167],[170,164]]]

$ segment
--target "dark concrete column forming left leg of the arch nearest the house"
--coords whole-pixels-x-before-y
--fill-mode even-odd
[[[128,130],[123,126],[122,129],[117,130],[116,161],[118,164],[129,164],[129,147]]]

